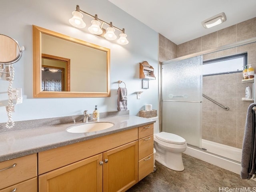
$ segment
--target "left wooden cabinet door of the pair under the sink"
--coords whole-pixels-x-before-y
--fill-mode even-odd
[[[42,174],[39,192],[102,192],[102,154]]]

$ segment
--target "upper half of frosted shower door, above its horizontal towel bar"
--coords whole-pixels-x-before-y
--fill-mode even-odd
[[[202,56],[162,66],[162,99],[202,101]]]

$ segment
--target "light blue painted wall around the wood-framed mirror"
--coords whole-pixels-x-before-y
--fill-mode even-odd
[[[108,40],[88,34],[86,29],[70,26],[68,19],[76,5],[100,19],[112,21],[114,26],[125,28],[129,44],[120,46]],[[86,18],[87,16],[84,16]],[[91,20],[86,18],[86,20]],[[110,89],[108,98],[33,98],[33,39],[32,25],[40,26],[87,42],[110,48]],[[145,104],[158,109],[158,80],[149,82],[149,89],[141,88],[139,62],[148,61],[155,68],[158,79],[158,33],[139,22],[108,0],[1,0],[0,33],[17,40],[25,46],[22,59],[14,64],[15,78],[13,88],[22,88],[23,103],[15,106],[13,120],[31,120],[82,114],[84,110],[92,113],[98,105],[100,112],[117,110],[118,80],[126,83],[128,89],[128,109],[130,114],[138,115]],[[85,82],[85,83],[92,83]],[[8,82],[0,80],[0,92],[6,92]],[[134,92],[143,91],[141,99]],[[0,100],[4,98],[0,94]],[[6,122],[5,107],[0,107],[0,122]]]

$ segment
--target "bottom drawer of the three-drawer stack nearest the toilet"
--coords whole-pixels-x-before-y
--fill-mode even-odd
[[[139,160],[139,181],[153,172],[154,169],[154,154],[146,156],[142,160]]]

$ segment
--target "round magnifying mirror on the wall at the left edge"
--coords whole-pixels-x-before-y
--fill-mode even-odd
[[[0,64],[10,65],[17,62],[22,56],[22,50],[24,47],[20,48],[16,40],[0,34]]]

